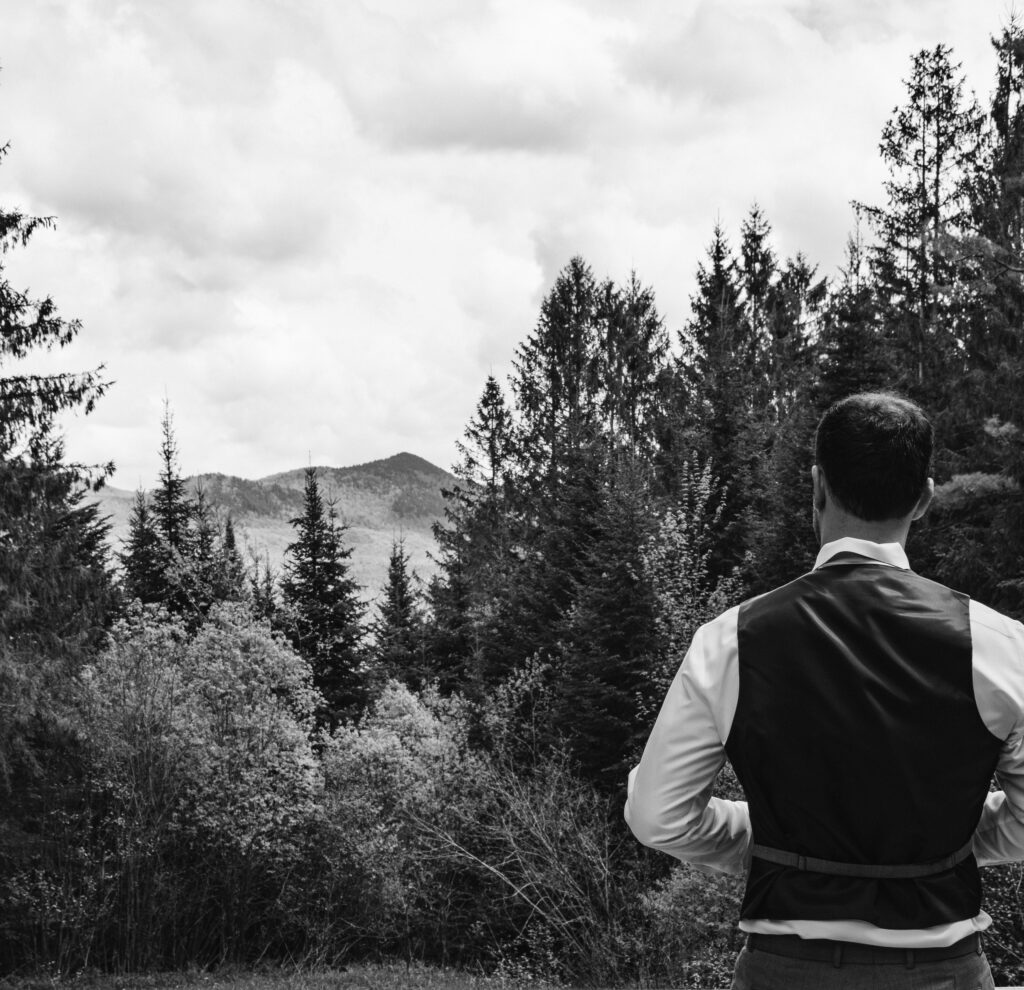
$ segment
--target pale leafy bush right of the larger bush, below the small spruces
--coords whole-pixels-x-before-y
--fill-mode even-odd
[[[489,800],[464,702],[388,684],[324,750],[330,872],[345,898],[322,938],[444,963],[483,913],[478,885],[436,834],[462,836]],[[340,910],[339,910],[340,908]]]

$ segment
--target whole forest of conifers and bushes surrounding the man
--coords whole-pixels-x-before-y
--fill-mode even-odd
[[[16,374],[84,331],[0,265],[0,972],[728,983],[739,880],[639,847],[626,778],[695,629],[812,565],[829,403],[926,408],[911,564],[1024,617],[1024,29],[992,44],[985,103],[948,47],[909,59],[838,273],[779,257],[754,205],[711,231],[670,330],[638,273],[567,259],[482,383],[436,576],[396,541],[372,607],[315,470],[281,572],[251,564],[185,485],[169,411],[112,546],[85,498],[112,468],[59,431],[110,383]],[[3,253],[49,225],[0,210]],[[1024,873],[984,877],[996,982],[1024,982]]]

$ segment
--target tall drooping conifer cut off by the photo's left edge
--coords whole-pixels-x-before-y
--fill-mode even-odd
[[[0,161],[7,147],[0,147]],[[52,218],[0,209],[0,786],[40,770],[37,757],[58,736],[60,705],[97,645],[113,605],[108,527],[84,503],[112,465],[68,464],[60,414],[92,411],[108,383],[83,374],[19,374],[37,350],[70,344],[78,320],[50,297],[35,299],[5,277],[8,251],[26,247]],[[46,763],[46,760],[42,761]],[[24,783],[24,779],[23,779]],[[35,785],[14,788],[25,797]],[[20,800],[20,799],[19,799]],[[5,829],[15,811],[7,807]]]

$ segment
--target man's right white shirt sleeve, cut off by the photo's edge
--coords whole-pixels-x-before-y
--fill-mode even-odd
[[[974,835],[978,865],[993,866],[1024,860],[1024,627],[971,602],[971,637],[978,712],[1004,740],[999,789],[988,795]]]

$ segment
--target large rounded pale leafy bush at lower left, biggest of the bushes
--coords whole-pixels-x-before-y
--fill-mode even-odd
[[[77,800],[0,884],[8,940],[68,970],[244,957],[276,927],[322,787],[308,665],[241,606],[193,639],[141,607],[81,680]],[[266,939],[262,940],[266,945]]]

